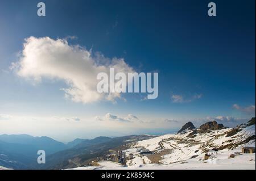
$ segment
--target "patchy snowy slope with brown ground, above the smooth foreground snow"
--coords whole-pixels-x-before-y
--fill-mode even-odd
[[[207,132],[201,132],[197,129],[189,130],[184,134],[167,134],[150,140],[139,141],[134,145],[134,148],[146,148],[152,151],[154,154],[147,155],[147,158],[150,159],[149,163],[170,165],[177,162],[183,163],[184,161],[203,161],[205,153],[212,149],[219,150],[214,153],[214,157],[216,157],[214,159],[221,158],[224,162],[224,157],[228,159],[230,154],[241,152],[243,146],[255,147],[255,125],[242,124],[236,128],[208,130]],[[130,150],[126,151],[131,153]],[[144,159],[136,151],[133,154],[135,158],[127,161],[128,166],[138,165],[140,161],[136,160]],[[241,157],[241,155],[238,157]],[[243,157],[246,157],[246,155]],[[251,160],[249,163],[253,161],[255,164],[255,154],[249,157]]]

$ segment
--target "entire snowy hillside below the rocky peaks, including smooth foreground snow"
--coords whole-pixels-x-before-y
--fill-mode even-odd
[[[123,150],[126,153],[123,166],[101,161],[98,167],[77,169],[255,169],[255,153],[241,153],[243,146],[255,147],[255,121],[236,128],[216,125],[134,142]],[[140,154],[141,149],[152,154]],[[131,154],[133,158],[129,159]]]

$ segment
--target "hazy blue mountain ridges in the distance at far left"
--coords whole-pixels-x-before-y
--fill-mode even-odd
[[[110,137],[97,137],[92,140],[77,138],[68,144],[53,140],[50,137],[33,137],[27,134],[0,135],[0,166],[13,169],[37,169],[38,150],[46,151],[46,155],[58,151],[82,148],[100,144],[110,140]]]

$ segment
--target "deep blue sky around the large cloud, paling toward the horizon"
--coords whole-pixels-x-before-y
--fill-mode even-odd
[[[233,117],[237,121],[226,123],[233,125],[255,115],[255,1],[214,1],[216,17],[207,15],[208,1],[43,2],[45,17],[36,14],[38,1],[0,3],[0,115],[12,116],[9,121],[77,117],[86,131],[88,123],[95,127],[87,129],[95,130],[97,124],[102,124],[92,117],[107,113],[119,117],[131,114],[155,124],[175,120],[168,126],[159,125],[160,131],[155,131],[155,126],[137,126],[138,130],[132,131],[133,126],[120,124],[119,130],[130,129],[115,133],[114,128],[102,125],[94,134],[82,130],[75,134],[74,128],[73,138],[168,132],[188,120],[197,123],[217,116]],[[61,79],[43,78],[34,85],[10,70],[12,62],[20,61],[17,54],[31,36],[52,40],[75,36],[68,39],[69,45],[92,49],[110,59],[123,58],[139,72],[158,71],[158,99],[142,100],[144,94],[122,94],[126,101],[77,103],[64,98],[60,89],[68,85]],[[0,133],[28,132],[71,139],[63,138],[55,127],[40,133],[28,129],[28,123],[20,129],[10,128],[14,123],[7,125],[8,116],[2,117],[1,128],[6,129],[0,129]]]

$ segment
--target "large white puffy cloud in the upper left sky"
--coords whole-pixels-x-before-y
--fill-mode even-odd
[[[120,98],[120,94],[99,94],[96,90],[97,74],[109,74],[109,68],[115,72],[133,72],[133,68],[122,58],[105,58],[79,45],[69,45],[67,39],[49,37],[29,37],[25,40],[19,61],[12,66],[23,78],[40,82],[42,78],[60,79],[68,88],[62,89],[65,96],[74,102],[90,103],[97,100]]]

